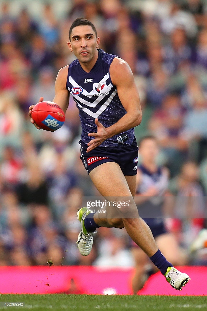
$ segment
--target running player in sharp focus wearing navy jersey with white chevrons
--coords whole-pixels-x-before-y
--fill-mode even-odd
[[[96,28],[84,18],[72,23],[69,40],[69,50],[77,59],[58,72],[53,102],[65,112],[69,95],[76,101],[82,127],[81,160],[101,195],[114,198],[115,202],[130,198],[127,208],[109,207],[105,218],[86,207],[78,211],[79,251],[83,256],[91,252],[97,227],[125,227],[170,285],[181,290],[190,277],[176,270],[160,252],[133,200],[138,156],[133,128],[141,123],[142,112],[132,71],[124,60],[98,49]],[[33,107],[29,107],[32,123]]]

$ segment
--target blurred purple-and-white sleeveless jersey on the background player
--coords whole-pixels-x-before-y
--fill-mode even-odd
[[[158,189],[158,195],[149,197],[149,199],[142,204],[138,205],[138,211],[142,218],[160,218],[162,217],[162,207],[164,201],[164,193],[168,188],[168,176],[162,170],[158,168],[156,173],[151,173],[143,165],[140,165],[138,169],[142,172],[141,183],[137,188],[137,193],[144,193],[150,187]],[[155,223],[159,223],[158,220],[154,220]],[[161,221],[161,219],[160,219]]]

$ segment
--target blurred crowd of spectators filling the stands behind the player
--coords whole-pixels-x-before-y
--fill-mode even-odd
[[[143,112],[137,140],[153,134],[170,172],[175,202],[166,223],[189,264],[207,264],[206,1],[71,0],[59,14],[43,1],[36,15],[31,2],[15,2],[15,12],[14,1],[0,3],[0,265],[133,265],[124,229],[99,228],[87,257],[76,247],[82,197],[98,193],[79,159],[74,101],[56,132],[28,118],[40,96],[53,99],[58,70],[74,59],[68,31],[80,16],[94,23],[102,49],[130,65]],[[189,202],[180,197],[196,197],[197,216],[182,218]]]

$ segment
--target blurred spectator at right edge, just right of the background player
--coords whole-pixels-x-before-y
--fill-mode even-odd
[[[171,230],[189,254],[191,243],[204,227],[205,220],[206,203],[198,165],[192,161],[185,162],[180,174],[172,179],[170,189],[176,195]]]

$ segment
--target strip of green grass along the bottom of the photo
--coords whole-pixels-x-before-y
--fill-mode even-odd
[[[24,307],[0,310],[76,311],[196,311],[207,310],[207,296],[119,296],[119,295],[2,295],[1,302],[24,302]]]

